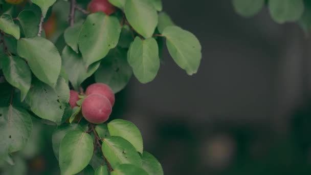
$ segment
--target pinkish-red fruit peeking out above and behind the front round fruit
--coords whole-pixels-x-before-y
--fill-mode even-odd
[[[86,88],[86,95],[100,94],[105,96],[112,106],[115,104],[115,93],[113,90],[104,83],[94,83]]]

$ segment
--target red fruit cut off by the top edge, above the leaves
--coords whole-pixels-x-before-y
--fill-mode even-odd
[[[106,15],[113,14],[117,11],[116,7],[108,2],[108,0],[92,0],[87,6],[87,10],[91,13],[104,12]]]

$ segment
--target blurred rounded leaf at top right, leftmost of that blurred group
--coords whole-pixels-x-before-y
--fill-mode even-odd
[[[264,6],[264,0],[232,0],[234,10],[243,17],[257,14]]]

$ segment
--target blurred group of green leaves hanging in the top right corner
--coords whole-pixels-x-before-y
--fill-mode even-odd
[[[306,32],[311,30],[311,2],[308,0],[232,0],[235,11],[252,17],[266,5],[278,24],[297,22]]]

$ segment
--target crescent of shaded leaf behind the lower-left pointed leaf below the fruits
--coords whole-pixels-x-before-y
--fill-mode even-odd
[[[59,157],[59,147],[60,147],[60,142],[62,138],[70,131],[76,130],[76,129],[81,129],[82,128],[78,124],[63,124],[60,125],[52,135],[52,146],[53,146],[53,151],[56,159],[58,160]]]

